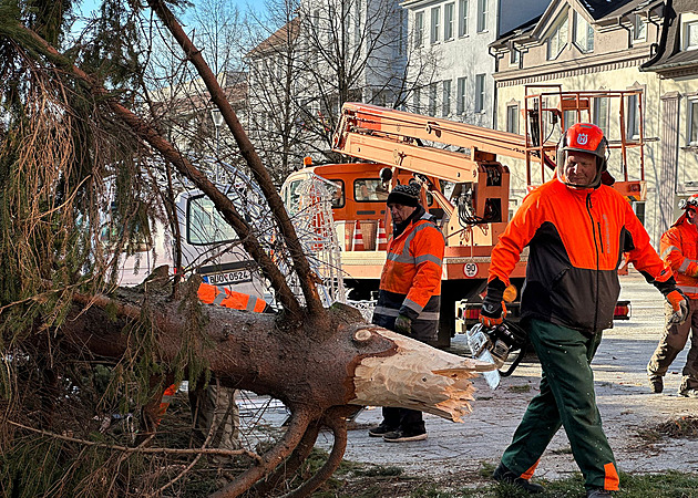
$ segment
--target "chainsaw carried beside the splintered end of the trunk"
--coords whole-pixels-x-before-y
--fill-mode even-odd
[[[504,320],[491,328],[476,323],[466,331],[466,341],[473,359],[496,365],[497,370],[483,372],[487,385],[495,390],[501,377],[510,376],[523,360],[528,334],[515,323]],[[511,363],[502,371],[507,361]]]

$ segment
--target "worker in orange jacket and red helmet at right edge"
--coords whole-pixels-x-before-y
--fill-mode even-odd
[[[679,207],[684,212],[661,236],[659,250],[674,270],[677,287],[688,298],[689,319],[675,323],[667,309],[665,331],[647,364],[647,375],[653,393],[661,393],[663,377],[684,350],[690,333],[690,350],[678,391],[682,396],[698,397],[698,194],[681,200]]]

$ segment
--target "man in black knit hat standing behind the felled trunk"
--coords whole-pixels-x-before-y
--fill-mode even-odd
[[[418,185],[398,185],[388,195],[392,237],[372,322],[429,343],[439,325],[445,240],[419,195]],[[369,435],[390,443],[427,439],[422,413],[397,407],[383,407],[383,422]]]

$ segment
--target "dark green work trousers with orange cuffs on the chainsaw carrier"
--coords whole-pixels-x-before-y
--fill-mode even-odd
[[[541,393],[531,400],[502,463],[530,477],[562,425],[585,487],[618,489],[616,463],[602,428],[589,366],[602,334],[589,336],[540,320],[532,320],[527,328],[543,370]]]

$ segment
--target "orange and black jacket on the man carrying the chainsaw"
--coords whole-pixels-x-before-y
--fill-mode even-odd
[[[674,286],[630,204],[604,185],[575,189],[553,179],[528,194],[492,251],[490,280],[509,286],[525,246],[523,318],[585,332],[612,328],[624,252],[659,290]]]

